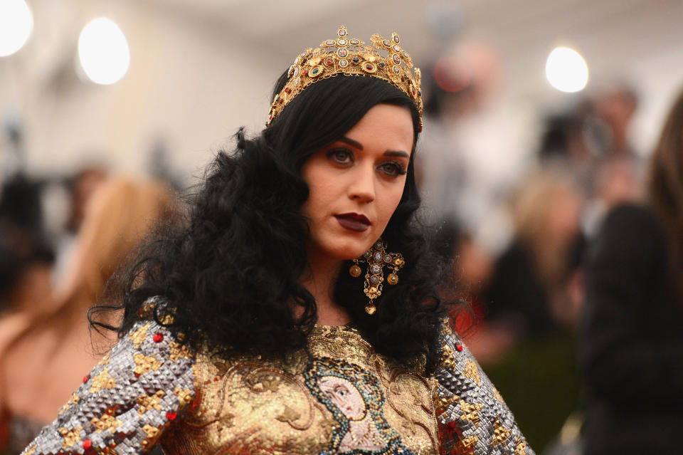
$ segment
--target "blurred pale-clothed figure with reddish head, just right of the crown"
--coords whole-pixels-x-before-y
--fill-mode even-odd
[[[418,169],[425,213],[432,221],[455,221],[463,246],[488,263],[512,234],[505,195],[524,175],[526,161],[520,146],[526,117],[499,102],[503,78],[497,51],[475,40],[457,43],[425,77]]]

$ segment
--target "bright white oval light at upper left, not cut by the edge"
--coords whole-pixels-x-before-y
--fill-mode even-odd
[[[83,72],[92,82],[107,85],[125,75],[130,51],[119,26],[100,17],[90,21],[80,32],[78,58]]]

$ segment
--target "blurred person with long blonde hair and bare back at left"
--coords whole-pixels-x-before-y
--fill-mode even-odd
[[[57,305],[33,318],[0,351],[0,422],[9,455],[18,454],[53,419],[99,360],[96,352],[110,344],[95,337],[89,345],[88,308],[149,228],[176,209],[168,188],[137,179],[109,179],[92,195],[55,292]]]

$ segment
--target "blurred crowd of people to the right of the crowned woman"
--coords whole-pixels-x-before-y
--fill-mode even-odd
[[[536,451],[679,453],[683,98],[656,150],[630,143],[638,98],[615,85],[547,115],[514,162],[475,51],[426,78],[418,151],[434,248],[472,308],[461,333]]]

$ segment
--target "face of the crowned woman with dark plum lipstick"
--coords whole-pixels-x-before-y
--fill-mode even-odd
[[[408,108],[379,104],[302,167],[309,259],[357,258],[381,236],[403,194],[413,148]]]

